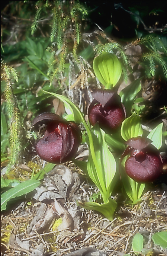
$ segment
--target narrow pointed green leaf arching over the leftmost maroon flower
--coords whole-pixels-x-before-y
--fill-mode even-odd
[[[83,114],[81,113],[81,111],[76,107],[76,105],[74,105],[73,102],[71,102],[69,99],[67,99],[67,97],[62,96],[57,93],[46,92],[44,90],[42,90],[42,91],[44,93],[49,93],[49,94],[55,96],[56,98],[60,99],[64,103],[65,111],[67,112],[68,115],[72,115],[71,118],[73,117],[73,120],[76,123],[80,124],[81,122],[84,121],[84,117],[83,117]]]

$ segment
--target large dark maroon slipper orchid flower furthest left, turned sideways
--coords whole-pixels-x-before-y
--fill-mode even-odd
[[[44,137],[36,144],[36,153],[49,163],[65,163],[75,156],[82,135],[77,124],[54,113],[42,113],[33,119],[47,124]]]

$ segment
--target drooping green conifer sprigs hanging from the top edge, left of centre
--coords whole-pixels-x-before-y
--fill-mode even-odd
[[[75,61],[78,62],[78,55],[77,55],[77,46],[81,41],[81,31],[80,31],[80,23],[81,20],[84,20],[87,13],[87,10],[81,3],[66,3],[67,6],[65,7],[62,1],[49,1],[48,3],[44,3],[38,1],[36,3],[37,12],[35,19],[32,24],[32,34],[36,31],[38,27],[38,20],[42,9],[46,9],[47,7],[52,7],[52,29],[51,29],[51,41],[54,40],[57,42],[58,51],[60,51],[60,55],[58,56],[57,61],[53,60],[53,57],[56,57],[57,53],[51,48],[48,48],[52,51],[52,58],[49,60],[49,71],[52,71],[52,78],[55,77],[57,71],[64,71],[65,68],[65,57],[67,55],[66,49],[68,45],[68,37],[71,34],[71,38],[73,39],[73,58]],[[65,8],[64,8],[65,7]],[[67,12],[67,9],[69,12]],[[54,55],[55,54],[55,55]],[[56,64],[56,65],[55,65]],[[53,69],[54,68],[54,69]]]

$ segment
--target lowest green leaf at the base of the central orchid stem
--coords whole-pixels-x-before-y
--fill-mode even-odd
[[[112,198],[108,198],[107,202],[101,205],[94,202],[77,202],[77,204],[84,209],[101,212],[109,221],[113,220],[113,214],[117,206],[116,201]]]

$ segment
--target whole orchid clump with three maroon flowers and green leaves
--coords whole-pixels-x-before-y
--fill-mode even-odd
[[[142,137],[139,115],[135,112],[130,115],[134,99],[141,90],[141,79],[133,81],[119,95],[115,93],[113,87],[122,73],[121,62],[115,54],[103,52],[97,56],[93,69],[105,90],[92,93],[94,100],[89,106],[88,123],[83,113],[67,97],[43,90],[64,102],[67,115],[61,118],[53,113],[43,113],[33,120],[33,125],[38,122],[47,124],[44,138],[36,145],[36,152],[50,163],[72,160],[86,172],[99,188],[103,204],[90,201],[78,202],[78,205],[99,211],[113,220],[117,203],[111,195],[119,176],[126,194],[136,203],[141,198],[145,182],[161,174],[162,159],[158,149],[162,144],[162,125],[161,132],[155,129],[154,136],[151,132],[149,139]],[[77,125],[81,123],[87,132],[87,162],[74,159],[81,143],[81,132]]]

